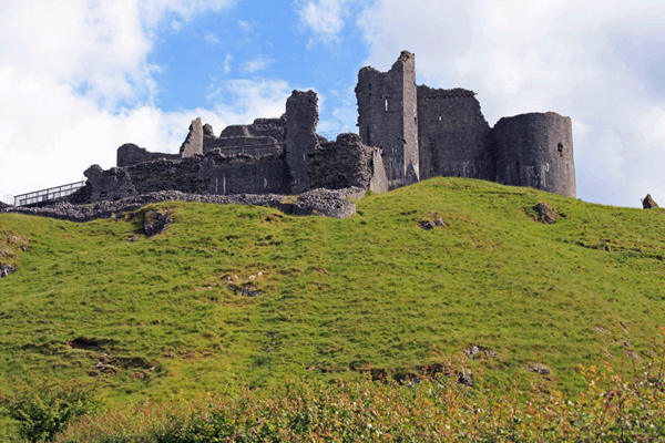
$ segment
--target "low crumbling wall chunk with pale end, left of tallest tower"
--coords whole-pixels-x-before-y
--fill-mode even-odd
[[[362,144],[357,134],[339,134],[336,142],[319,146],[309,159],[309,176],[313,188],[388,190],[379,150]]]

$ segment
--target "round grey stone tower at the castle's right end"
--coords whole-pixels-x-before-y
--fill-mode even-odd
[[[576,197],[570,117],[554,112],[503,117],[492,138],[498,183]]]

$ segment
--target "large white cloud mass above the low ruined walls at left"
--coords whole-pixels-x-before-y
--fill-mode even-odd
[[[146,58],[160,29],[232,3],[2,1],[0,197],[78,181],[91,164],[111,167],[122,143],[175,152],[197,115],[219,127],[280,115],[288,87],[274,82],[250,85],[245,93],[255,102],[239,113],[231,105],[176,113],[153,105],[157,68]]]

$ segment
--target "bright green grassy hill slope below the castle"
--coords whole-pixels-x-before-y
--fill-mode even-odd
[[[541,202],[555,224],[533,220]],[[342,220],[191,203],[0,215],[0,262],[19,266],[0,280],[0,390],[55,377],[125,402],[451,360],[478,374],[477,344],[493,383],[574,391],[580,363],[632,372],[665,326],[664,210],[458,178],[357,205]],[[173,223],[146,237],[146,210]]]

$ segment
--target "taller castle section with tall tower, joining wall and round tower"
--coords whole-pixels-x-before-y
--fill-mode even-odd
[[[408,165],[415,164],[420,179],[481,178],[576,197],[570,117],[522,114],[492,128],[473,91],[416,86],[412,66],[415,56],[405,51],[388,72],[358,73],[359,133],[366,145],[381,148],[390,188],[410,183]]]

